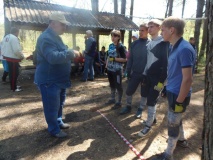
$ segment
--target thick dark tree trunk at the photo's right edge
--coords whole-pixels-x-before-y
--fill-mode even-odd
[[[213,159],[213,0],[207,0],[208,31],[204,96],[204,126],[202,159]]]

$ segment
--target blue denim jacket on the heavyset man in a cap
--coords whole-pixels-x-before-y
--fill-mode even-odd
[[[38,38],[36,44],[37,66],[35,83],[56,84],[60,88],[71,86],[71,58],[73,51],[67,50],[62,39],[47,28]]]

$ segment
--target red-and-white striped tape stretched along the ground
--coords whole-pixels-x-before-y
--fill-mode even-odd
[[[97,112],[100,113],[100,115],[104,117],[104,119],[106,119],[106,121],[110,124],[110,126],[115,130],[115,132],[120,136],[120,138],[129,146],[129,148],[135,153],[135,155],[140,160],[145,160],[145,158],[137,151],[137,149],[117,130],[117,128],[115,128],[115,126],[109,121],[109,119],[104,114],[102,114],[100,110],[97,110]]]

